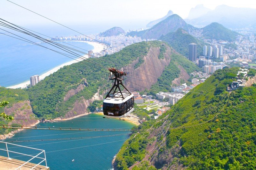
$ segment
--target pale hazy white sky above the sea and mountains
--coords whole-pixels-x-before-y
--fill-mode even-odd
[[[66,1],[66,0],[11,0],[29,10],[35,11],[45,17],[51,18],[65,25],[106,25],[108,29],[119,26],[123,29],[145,28],[146,24],[158,18],[164,17],[169,10],[181,18],[187,18],[191,8],[203,4],[211,10],[219,5],[231,7],[256,8],[256,4],[250,0],[234,2],[230,0],[208,2],[203,0],[171,1]],[[41,3],[40,3],[41,2]],[[25,10],[11,2],[2,1],[0,7],[1,18],[21,26],[52,25],[43,17]],[[104,31],[104,30],[103,30]]]

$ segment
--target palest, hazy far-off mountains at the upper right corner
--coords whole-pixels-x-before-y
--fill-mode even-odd
[[[188,18],[185,21],[196,27],[204,27],[212,22],[218,22],[227,28],[245,28],[248,26],[256,26],[256,9],[252,8],[235,8],[227,5],[219,5],[214,10],[195,18],[195,13],[202,14],[207,11],[202,6],[196,6],[191,9]]]

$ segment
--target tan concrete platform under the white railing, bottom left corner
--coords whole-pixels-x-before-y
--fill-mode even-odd
[[[7,157],[0,156],[0,170],[15,170],[22,164],[24,164],[25,161],[18,160],[18,159],[8,159]],[[36,166],[36,164],[33,163],[27,163],[26,165],[22,166],[20,169],[21,170],[28,170],[31,169],[32,167]],[[50,170],[49,167],[38,165],[34,169],[36,170]]]

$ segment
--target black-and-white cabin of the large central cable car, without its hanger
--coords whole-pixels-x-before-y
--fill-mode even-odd
[[[134,108],[134,96],[132,93],[120,92],[109,95],[103,101],[103,113],[106,117],[121,118],[130,114]]]

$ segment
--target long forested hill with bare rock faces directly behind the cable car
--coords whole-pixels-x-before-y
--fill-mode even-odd
[[[160,41],[140,42],[100,58],[118,63],[123,67],[135,69],[135,71],[127,70],[130,76],[152,81],[149,83],[127,77],[126,87],[136,91],[144,91],[145,88],[142,87],[148,89],[154,87],[153,90],[158,90],[157,86],[153,85],[157,81],[162,85],[170,86],[175,78],[199,69],[194,63]],[[104,67],[115,67],[115,64],[98,58],[91,58],[90,60]],[[102,100],[111,85],[112,82],[108,80],[108,70],[84,61],[61,68],[29,89],[15,89],[16,92],[1,88],[0,99],[10,102],[13,100],[13,104],[28,101],[29,107],[32,107],[33,113],[37,117],[73,117],[88,112],[88,106],[94,100]],[[150,93],[150,91],[148,92]],[[26,98],[20,99],[15,94],[19,97],[25,95]],[[10,107],[12,103],[10,103]]]

